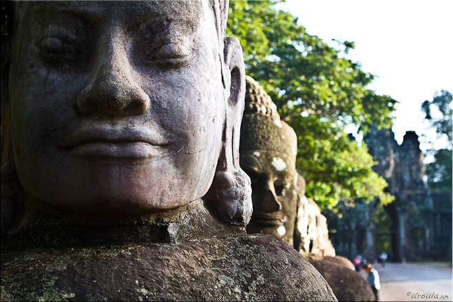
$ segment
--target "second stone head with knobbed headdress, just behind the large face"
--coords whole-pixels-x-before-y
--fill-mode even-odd
[[[246,77],[240,162],[251,177],[253,215],[247,233],[272,234],[293,245],[297,215],[297,136],[253,78]]]

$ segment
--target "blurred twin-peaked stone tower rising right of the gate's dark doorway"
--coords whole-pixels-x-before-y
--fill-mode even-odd
[[[418,136],[405,133],[398,145],[390,130],[372,129],[364,138],[379,164],[375,171],[388,182],[395,200],[386,207],[392,219],[392,249],[395,260],[420,260],[430,257],[433,246],[433,204],[428,185],[423,180],[425,167]]]

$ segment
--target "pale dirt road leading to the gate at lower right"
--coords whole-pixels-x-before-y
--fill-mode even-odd
[[[381,301],[452,301],[452,268],[441,263],[376,266]]]

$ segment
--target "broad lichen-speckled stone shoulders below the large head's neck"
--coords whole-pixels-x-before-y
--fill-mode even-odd
[[[317,270],[272,235],[29,250],[1,259],[2,301],[335,301]]]

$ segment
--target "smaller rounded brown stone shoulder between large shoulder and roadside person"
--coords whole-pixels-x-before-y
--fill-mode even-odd
[[[330,261],[310,260],[329,283],[338,301],[375,301],[368,281],[355,270]]]

